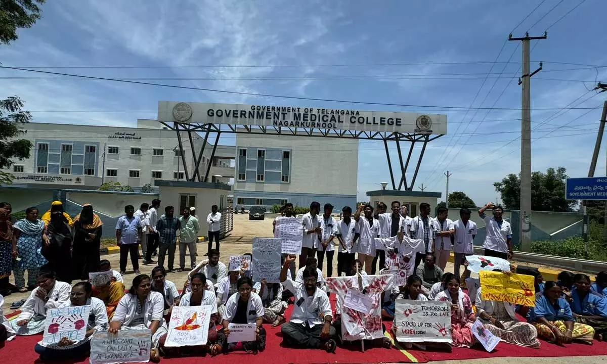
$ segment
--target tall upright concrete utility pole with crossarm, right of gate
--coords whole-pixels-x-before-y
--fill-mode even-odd
[[[523,42],[523,75],[519,84],[522,84],[521,96],[521,190],[520,190],[520,234],[519,241],[521,251],[531,251],[531,76],[540,72],[540,68],[533,73],[529,70],[529,41],[534,39],[546,39],[546,32],[543,36],[529,36],[525,33],[523,38],[512,38],[508,36],[509,41]]]

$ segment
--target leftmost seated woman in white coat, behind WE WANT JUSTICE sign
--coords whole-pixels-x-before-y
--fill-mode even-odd
[[[72,286],[56,280],[56,274],[49,269],[38,273],[38,287],[21,306],[21,314],[11,322],[17,335],[34,335],[44,331],[46,311],[59,308],[70,300]]]

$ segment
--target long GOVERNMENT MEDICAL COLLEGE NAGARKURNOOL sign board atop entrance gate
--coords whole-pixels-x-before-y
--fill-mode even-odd
[[[158,102],[158,121],[446,134],[447,115],[322,107]]]

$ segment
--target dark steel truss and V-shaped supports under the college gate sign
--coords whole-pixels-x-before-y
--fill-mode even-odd
[[[291,136],[320,136],[324,138],[340,138],[340,139],[362,139],[362,140],[381,140],[384,141],[385,155],[388,160],[388,169],[390,170],[390,181],[392,182],[392,189],[394,190],[413,190],[413,186],[415,186],[415,180],[417,178],[419,172],[419,166],[421,166],[421,160],[424,158],[424,152],[426,151],[426,146],[430,141],[433,141],[437,138],[443,136],[443,134],[432,135],[429,133],[401,133],[401,132],[375,132],[375,131],[367,131],[367,130],[339,130],[339,129],[317,129],[317,128],[297,128],[297,127],[280,127],[280,126],[249,126],[249,125],[240,125],[240,124],[201,124],[201,123],[164,123],[161,122],[165,127],[171,130],[175,130],[177,133],[177,141],[179,143],[179,147],[183,150],[183,141],[181,140],[181,132],[188,133],[188,139],[190,147],[192,148],[192,153],[194,154],[194,171],[192,175],[189,175],[188,166],[186,165],[186,157],[185,153],[181,152],[181,162],[183,163],[183,169],[185,178],[187,181],[198,181],[198,182],[208,182],[209,173],[211,172],[211,163],[213,158],[215,157],[215,150],[217,149],[217,144],[219,143],[219,136],[221,133],[240,133],[240,134],[253,134],[253,135],[291,135]],[[196,156],[196,151],[194,148],[194,139],[192,138],[192,133],[199,132],[204,133],[204,143],[200,150],[198,151],[198,156]],[[212,144],[213,149],[211,152],[211,158],[209,160],[209,164],[206,166],[205,176],[202,177],[200,175],[199,167],[200,162],[202,161],[202,155],[205,151],[205,147],[209,138],[210,133],[216,133],[215,141]],[[390,158],[390,149],[388,149],[388,141],[393,141],[396,144],[396,151],[398,152],[398,160],[401,170],[401,178],[398,182],[398,186],[396,184],[396,180],[394,177],[394,169],[392,166],[392,160]],[[403,163],[402,161],[402,151],[401,151],[401,142],[410,143],[409,153],[407,153],[407,159]],[[415,147],[415,143],[422,143],[421,152],[419,153],[419,158],[415,166],[415,171],[413,172],[413,178],[411,183],[407,181],[407,169],[409,169],[409,164],[411,161],[411,156],[413,153],[413,148]],[[395,167],[396,169],[396,167]]]

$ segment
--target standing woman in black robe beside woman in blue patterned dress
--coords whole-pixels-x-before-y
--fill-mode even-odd
[[[72,283],[72,228],[63,212],[55,211],[50,214],[46,235],[49,237],[49,244],[42,248],[42,255],[49,261],[49,267],[57,273],[58,280]]]

